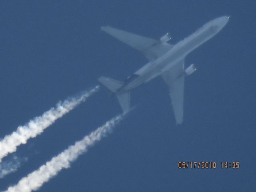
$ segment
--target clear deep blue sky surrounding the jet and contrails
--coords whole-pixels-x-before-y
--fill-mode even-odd
[[[206,22],[230,21],[186,57],[184,122],[176,126],[159,77],[134,90],[137,106],[104,138],[39,192],[255,191],[255,1],[1,1],[0,137],[97,78],[124,80],[146,64],[142,54],[100,26],[175,44]],[[0,190],[121,112],[101,90],[15,153],[28,161],[0,180]],[[8,158],[6,158],[8,160]],[[216,161],[216,169],[178,169],[178,161]],[[222,161],[239,161],[237,170]]]

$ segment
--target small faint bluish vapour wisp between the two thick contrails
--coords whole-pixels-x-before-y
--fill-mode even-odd
[[[3,161],[0,163],[0,178],[4,178],[6,175],[16,172],[23,162],[27,162],[28,158],[20,158],[13,156],[12,160]]]

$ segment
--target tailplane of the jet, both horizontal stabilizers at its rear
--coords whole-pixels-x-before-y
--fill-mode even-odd
[[[100,77],[98,78],[98,81],[106,86],[113,93],[115,93],[123,85],[123,82],[107,77]],[[117,94],[116,96],[123,112],[128,112],[130,108],[130,92]]]

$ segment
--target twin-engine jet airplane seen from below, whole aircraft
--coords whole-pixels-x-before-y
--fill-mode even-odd
[[[169,87],[176,124],[181,124],[184,77],[196,71],[194,64],[184,69],[184,59],[192,50],[220,32],[229,19],[230,16],[222,16],[211,20],[175,45],[167,43],[171,39],[168,33],[159,40],[154,40],[110,26],[103,26],[101,30],[139,50],[149,62],[126,78],[124,82],[103,76],[98,78],[98,81],[117,96],[123,112],[127,112],[130,108],[130,91],[161,75]]]

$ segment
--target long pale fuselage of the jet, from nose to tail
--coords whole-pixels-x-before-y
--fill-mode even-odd
[[[173,48],[162,57],[148,62],[132,76],[127,78],[123,86],[117,90],[116,94],[130,92],[132,89],[169,70],[180,60],[184,59],[192,50],[215,36],[226,25],[228,20],[228,16],[222,16],[204,24],[192,35],[175,44]]]

